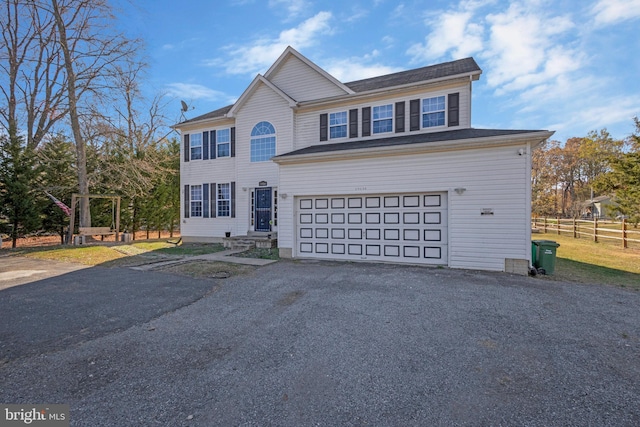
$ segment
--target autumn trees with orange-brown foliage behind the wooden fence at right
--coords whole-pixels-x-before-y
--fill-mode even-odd
[[[548,141],[532,155],[532,211],[536,216],[579,218],[597,196],[611,197],[606,216],[640,222],[640,121],[614,139],[606,129],[564,144]]]

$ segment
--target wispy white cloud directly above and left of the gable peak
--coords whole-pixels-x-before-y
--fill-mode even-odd
[[[304,49],[317,43],[320,35],[330,33],[331,18],[330,12],[319,12],[297,27],[282,31],[275,39],[258,39],[248,46],[227,46],[225,49],[231,58],[224,62],[220,59],[209,60],[205,64],[224,65],[229,74],[264,72],[287,46],[296,50]]]

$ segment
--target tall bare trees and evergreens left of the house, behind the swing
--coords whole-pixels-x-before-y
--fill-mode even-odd
[[[179,143],[161,96],[140,90],[140,40],[107,0],[0,2],[0,233],[56,231],[72,193],[122,197],[121,228],[174,230]],[[110,202],[81,200],[80,226],[110,226]]]

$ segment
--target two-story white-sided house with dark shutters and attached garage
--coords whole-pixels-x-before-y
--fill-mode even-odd
[[[526,274],[531,151],[552,132],[472,128],[481,73],[467,58],[342,83],[287,48],[235,104],[175,125],[183,239]]]

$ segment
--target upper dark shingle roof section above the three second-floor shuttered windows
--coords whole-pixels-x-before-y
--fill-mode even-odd
[[[456,75],[480,75],[481,73],[482,70],[473,58],[464,58],[457,61],[429,65],[422,68],[400,71],[398,73],[387,74],[384,76],[356,80],[350,83],[345,83],[345,85],[358,93]]]

